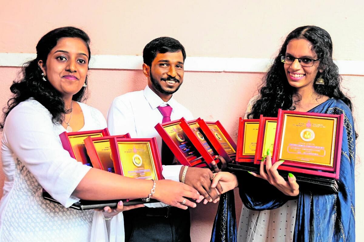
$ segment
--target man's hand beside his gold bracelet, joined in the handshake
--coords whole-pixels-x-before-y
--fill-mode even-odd
[[[212,178],[213,173],[209,169],[189,167],[186,172],[185,183],[194,187],[207,201],[216,203],[220,199],[219,194],[222,193],[222,187],[218,183],[216,189],[211,188]]]

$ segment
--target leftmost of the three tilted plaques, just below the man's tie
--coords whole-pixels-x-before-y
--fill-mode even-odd
[[[176,159],[185,166],[207,167],[203,157],[181,127],[181,120],[157,124],[154,127]]]

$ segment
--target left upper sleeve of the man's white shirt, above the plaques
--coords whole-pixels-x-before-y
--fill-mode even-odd
[[[134,114],[130,102],[117,97],[112,102],[107,112],[107,128],[111,135],[129,133],[131,137],[136,137]]]

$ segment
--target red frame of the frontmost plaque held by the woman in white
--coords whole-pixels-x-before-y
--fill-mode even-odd
[[[161,158],[159,156],[159,150],[158,150],[158,145],[157,145],[157,140],[155,139],[155,137],[153,138],[116,138],[116,137],[111,137],[110,138],[110,149],[111,149],[111,154],[112,154],[112,161],[114,163],[114,170],[115,170],[115,174],[119,174],[121,176],[123,176],[123,172],[122,172],[122,164],[120,161],[120,153],[119,153],[119,146],[118,146],[118,142],[122,141],[122,142],[145,142],[150,144],[150,150],[151,150],[151,156],[153,158],[153,162],[155,165],[155,172],[157,173],[157,178],[158,180],[162,180],[164,179],[162,176],[162,162],[161,162]]]

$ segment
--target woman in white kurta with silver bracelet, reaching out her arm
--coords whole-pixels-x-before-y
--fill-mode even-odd
[[[185,197],[199,198],[197,190],[186,184],[94,169],[62,148],[59,134],[66,130],[106,127],[98,110],[78,102],[87,86],[89,41],[74,27],[52,30],[38,42],[37,58],[25,65],[22,79],[10,88],[13,97],[0,124],[5,174],[0,241],[90,241],[93,211],[67,209],[79,199],[153,196],[183,209],[196,206]],[[42,187],[61,205],[42,199]],[[114,211],[106,207],[106,216],[122,210],[122,203]]]

